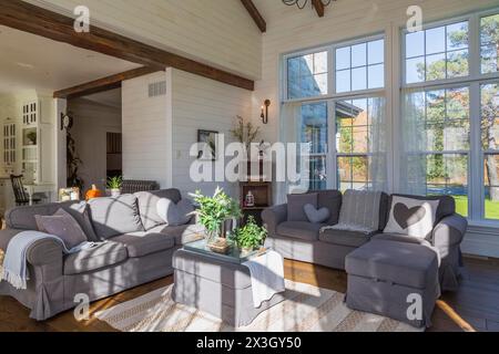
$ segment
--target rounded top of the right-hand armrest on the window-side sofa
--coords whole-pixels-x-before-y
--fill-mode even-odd
[[[460,215],[452,215],[442,219],[434,229],[432,244],[445,250],[449,247],[460,244],[468,228],[468,220]]]

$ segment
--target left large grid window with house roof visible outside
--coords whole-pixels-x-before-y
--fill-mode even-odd
[[[289,121],[283,129],[289,132],[287,142],[309,145],[308,189],[386,187],[378,142],[386,136],[375,134],[386,126],[385,39],[289,54],[284,62]]]

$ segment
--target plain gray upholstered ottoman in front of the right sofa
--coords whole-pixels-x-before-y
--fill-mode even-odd
[[[429,247],[373,240],[347,256],[346,271],[348,308],[416,327],[431,325],[440,288],[438,257]]]

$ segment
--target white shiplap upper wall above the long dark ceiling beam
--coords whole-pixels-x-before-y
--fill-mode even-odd
[[[27,0],[72,15],[90,9],[91,24],[191,59],[259,79],[262,35],[235,0]]]

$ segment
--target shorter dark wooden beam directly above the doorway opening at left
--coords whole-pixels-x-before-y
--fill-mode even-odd
[[[88,96],[94,93],[109,91],[113,88],[121,87],[121,83],[125,80],[147,75],[157,72],[159,70],[155,67],[138,67],[125,71],[124,73],[102,77],[99,80],[94,80],[81,85],[77,85],[73,87],[60,90],[53,93],[54,98],[75,98]]]

